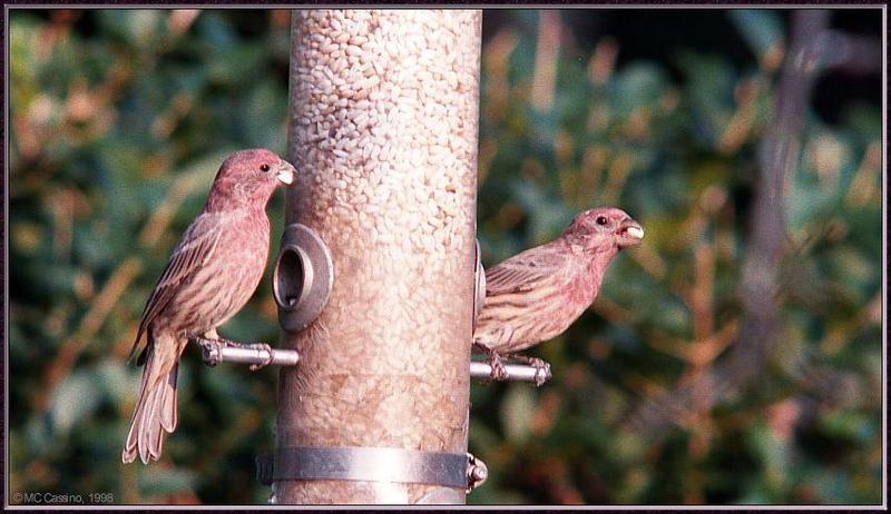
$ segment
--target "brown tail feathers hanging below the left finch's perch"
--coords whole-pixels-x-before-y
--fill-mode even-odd
[[[148,464],[149,459],[157,461],[164,444],[164,432],[172,433],[176,428],[179,352],[175,340],[150,343],[139,396],[121,454],[125,463],[134,462],[137,455],[144,464]]]

